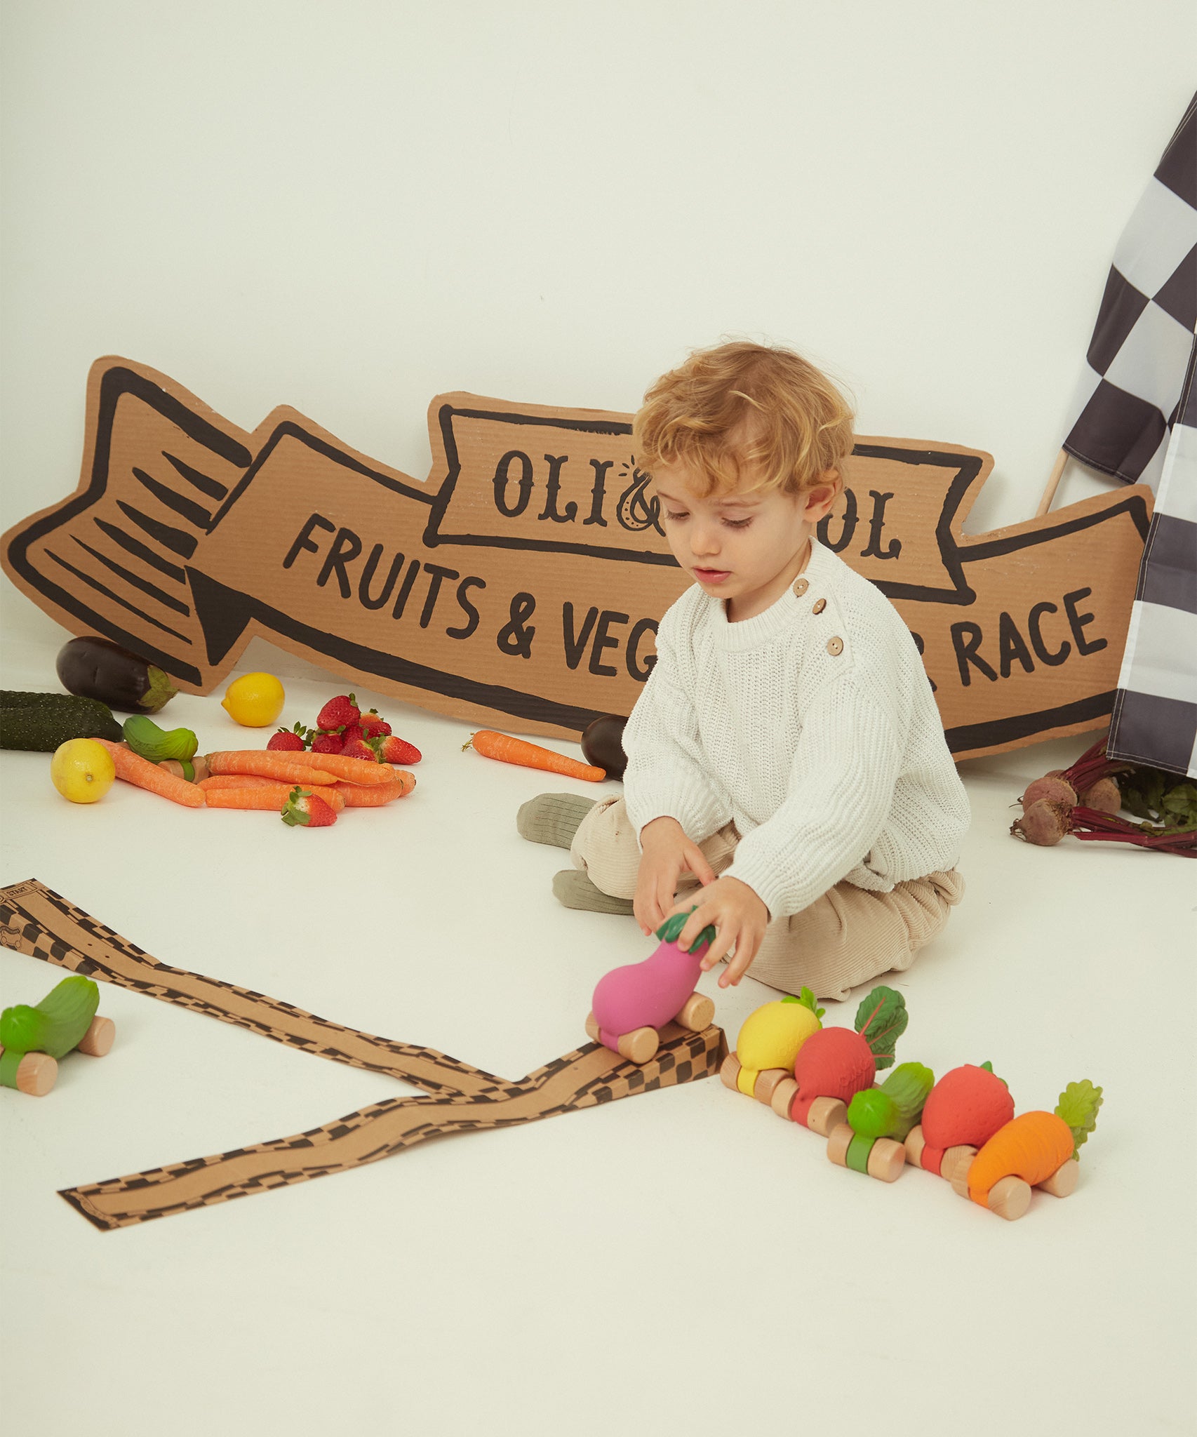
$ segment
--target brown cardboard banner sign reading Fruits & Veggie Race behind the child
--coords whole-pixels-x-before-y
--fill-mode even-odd
[[[76,634],[208,693],[254,635],[427,708],[576,737],[627,714],[687,586],[631,417],[438,395],[425,483],[293,410],[247,433],[165,375],[101,359],[76,493],[3,565]],[[957,757],[1111,713],[1150,517],[1144,486],[986,535],[993,466],[859,438],[821,540],[907,621]]]

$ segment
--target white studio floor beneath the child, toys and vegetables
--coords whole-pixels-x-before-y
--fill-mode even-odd
[[[10,645],[3,683],[56,687],[53,648]],[[292,723],[341,685],[287,687]],[[401,805],[328,832],[121,785],[76,808],[45,756],[4,753],[0,881],[40,878],[167,963],[522,1076],[582,1040],[596,979],[651,944],[552,898],[563,855],[514,831],[542,777],[463,753],[471,724],[358,694],[424,750]],[[251,737],[217,697],[162,717],[201,749]],[[1194,1431],[1197,867],[1006,832],[1026,780],[1085,741],[964,764],[969,894],[895,984],[900,1059],[992,1059],[1020,1109],[1104,1085],[1066,1201],[1003,1223],[927,1174],[884,1186],[704,1081],[99,1233],[56,1188],[405,1091],[102,986],[112,1053],[63,1061],[43,1099],[0,1091],[6,1428]],[[0,1003],[59,976],[6,950]],[[772,996],[718,994],[730,1040]]]

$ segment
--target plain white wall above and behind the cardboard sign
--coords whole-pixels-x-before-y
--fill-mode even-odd
[[[634,410],[723,335],[992,451],[971,529],[1027,517],[1193,39],[1188,0],[6,0],[0,520],[73,489],[103,354],[422,479],[440,391]]]

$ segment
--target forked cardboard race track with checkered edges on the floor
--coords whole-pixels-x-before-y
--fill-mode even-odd
[[[727,1053],[718,1027],[691,1033],[671,1026],[651,1063],[637,1066],[586,1043],[509,1082],[433,1048],[358,1033],[262,993],[168,967],[36,879],[0,890],[0,944],[435,1094],[388,1098],[289,1138],[63,1188],[60,1196],[101,1232],[345,1173],[425,1138],[514,1127],[707,1078]]]

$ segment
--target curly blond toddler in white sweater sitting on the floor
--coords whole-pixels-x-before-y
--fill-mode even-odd
[[[815,537],[852,412],[787,349],[729,343],[660,378],[638,466],[694,585],[667,611],[624,730],[624,796],[542,795],[519,829],[569,846],[553,890],[650,934],[697,904],[703,966],[818,997],[914,953],[964,891],[969,802],[897,609]]]

